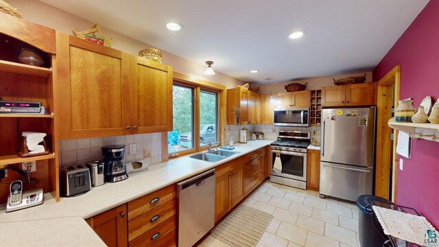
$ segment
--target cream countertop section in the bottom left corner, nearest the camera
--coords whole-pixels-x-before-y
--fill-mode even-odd
[[[82,217],[0,224],[1,246],[106,246]]]

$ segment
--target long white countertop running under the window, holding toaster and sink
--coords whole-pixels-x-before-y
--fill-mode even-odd
[[[82,217],[87,219],[108,209],[117,207],[141,196],[151,193],[167,185],[200,174],[217,165],[226,163],[239,156],[270,145],[272,141],[249,141],[246,144],[235,144],[235,150],[240,152],[222,161],[210,163],[184,156],[170,161],[150,165],[145,172],[132,174],[127,180],[118,183],[106,183],[100,187],[93,187],[82,196],[60,198],[55,202],[49,193],[45,193],[45,202],[42,205],[14,211],[0,212],[1,222],[19,222],[26,220],[56,219],[60,217]]]

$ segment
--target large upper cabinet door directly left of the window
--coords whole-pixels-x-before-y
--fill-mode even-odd
[[[172,130],[172,68],[131,56],[131,133]]]

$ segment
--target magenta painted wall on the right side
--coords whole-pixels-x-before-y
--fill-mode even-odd
[[[384,35],[384,34],[383,34]],[[414,106],[439,97],[439,0],[431,0],[373,71],[378,81],[401,64],[401,99]],[[403,158],[399,156],[399,158]],[[439,143],[412,141],[412,158],[398,169],[396,203],[414,207],[439,228]]]

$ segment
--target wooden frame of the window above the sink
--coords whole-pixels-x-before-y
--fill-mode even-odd
[[[193,148],[169,154],[167,145],[167,132],[162,132],[163,161],[167,161],[170,158],[176,158],[179,156],[185,156],[187,154],[193,154],[207,150],[207,145],[200,146],[200,91],[217,93],[217,140],[219,141],[219,143],[221,143],[221,145],[224,144],[224,141],[226,140],[226,86],[206,80],[196,79],[190,77],[189,75],[184,75],[177,72],[174,72],[172,84],[191,87],[194,90]]]

